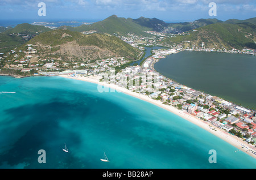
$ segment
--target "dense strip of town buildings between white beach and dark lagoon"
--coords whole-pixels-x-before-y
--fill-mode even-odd
[[[177,53],[174,49],[168,51]],[[129,66],[117,74],[113,69],[98,74],[81,74],[75,70],[65,71],[65,73],[61,73],[61,76],[65,75],[75,79],[96,78],[98,82],[114,84],[130,92],[157,100],[166,106],[175,107],[180,112],[207,123],[212,131],[221,130],[233,138],[240,139],[247,144],[245,146],[241,143],[241,148],[255,156],[255,110],[243,108],[222,98],[196,91],[159,75],[150,64],[156,61],[156,57],[162,58],[163,52],[166,53],[166,50],[157,50],[156,52],[159,54],[156,53],[155,57],[147,58],[142,66]]]

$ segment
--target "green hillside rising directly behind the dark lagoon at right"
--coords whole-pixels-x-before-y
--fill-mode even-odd
[[[190,45],[201,47],[204,42],[205,48],[243,49],[247,43],[256,41],[256,26],[251,23],[226,24],[214,23],[189,31],[190,35],[177,35],[167,38],[168,44],[191,41]]]

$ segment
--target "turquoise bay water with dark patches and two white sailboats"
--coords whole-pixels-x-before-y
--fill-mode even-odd
[[[0,76],[0,92],[16,92],[0,93],[0,168],[256,168],[253,157],[185,119],[123,93],[100,93],[97,84]],[[104,152],[109,162],[100,161]]]

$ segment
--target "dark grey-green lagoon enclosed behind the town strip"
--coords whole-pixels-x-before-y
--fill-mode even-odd
[[[256,56],[184,51],[156,62],[160,74],[245,108],[256,108]]]

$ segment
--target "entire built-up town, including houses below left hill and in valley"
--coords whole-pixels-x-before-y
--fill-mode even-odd
[[[144,58],[141,65],[135,64],[129,66],[131,62],[127,61],[124,57],[113,57],[97,61],[88,60],[82,63],[62,63],[59,59],[53,58],[37,59],[34,55],[37,52],[36,46],[31,44],[27,45],[25,52],[17,51],[16,49],[9,52],[9,55],[13,54],[17,58],[11,65],[7,64],[10,60],[6,59],[3,54],[1,54],[0,62],[5,61],[5,65],[2,63],[2,68],[19,70],[24,73],[24,76],[31,75],[31,72],[34,76],[66,75],[73,78],[97,76],[99,82],[115,84],[131,92],[137,92],[140,95],[158,100],[164,105],[174,106],[176,109],[196,117],[199,121],[207,122],[212,131],[216,131],[216,128],[226,131],[230,136],[236,136],[243,142],[246,142],[253,149],[248,149],[247,151],[256,155],[255,109],[244,108],[220,97],[211,96],[207,93],[186,87],[158,74],[154,70],[154,63],[158,62],[159,59],[183,50],[244,53],[251,55],[255,55],[255,52],[250,49],[208,49],[204,47],[203,42],[201,47],[193,48],[184,48],[181,44],[170,46],[161,43],[162,38],[166,35],[159,35],[154,32],[147,33],[154,34],[159,38],[140,37],[133,34],[129,34],[129,37],[120,37],[123,41],[142,51],[147,46],[164,47],[163,49],[152,50],[152,54]],[[24,56],[26,57],[25,59],[19,59],[21,53],[26,54]],[[244,145],[241,145],[241,147],[247,148]]]

